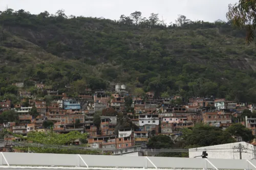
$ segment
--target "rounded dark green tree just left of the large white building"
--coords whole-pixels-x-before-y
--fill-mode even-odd
[[[151,148],[172,148],[174,143],[169,136],[157,135],[148,140],[149,147]]]

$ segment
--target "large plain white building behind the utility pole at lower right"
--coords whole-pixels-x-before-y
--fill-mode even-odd
[[[253,145],[247,142],[236,142],[227,144],[212,145],[209,147],[200,147],[189,149],[189,158],[202,155],[203,151],[206,151],[207,158],[214,159],[240,159],[239,147],[242,150],[242,159],[253,159],[254,148]],[[198,157],[199,159],[202,157]]]

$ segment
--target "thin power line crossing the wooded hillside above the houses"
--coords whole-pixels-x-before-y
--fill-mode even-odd
[[[42,47],[33,47],[33,46],[15,46],[15,45],[0,45],[2,47],[14,47],[14,48],[33,48],[33,49],[41,49],[41,50],[54,50],[54,51],[60,51],[60,52],[64,52],[64,51],[69,51],[69,52],[91,52],[93,53],[93,51],[90,50],[71,50],[69,48],[42,48]],[[138,56],[149,56],[150,54],[139,54],[139,53],[116,53],[116,52],[99,52],[99,53],[104,53],[104,54],[123,54],[123,55],[138,55]],[[153,55],[153,56],[162,56],[160,55]],[[163,57],[163,56],[162,56]],[[195,56],[179,56],[176,58],[197,58],[197,59],[205,59],[205,60],[227,60],[227,61],[247,61],[247,62],[256,62],[256,60],[245,60],[245,59],[232,59],[232,58],[209,58],[209,57],[195,57]]]

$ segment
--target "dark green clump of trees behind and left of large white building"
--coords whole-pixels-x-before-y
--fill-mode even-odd
[[[168,136],[158,135],[150,138],[148,145],[151,148],[189,149],[236,142],[236,137],[242,137],[242,140],[246,142],[250,142],[254,139],[251,130],[247,129],[242,124],[232,124],[230,127],[223,130],[218,127],[200,123],[196,124],[193,128],[184,128],[183,134],[180,137],[181,140],[176,143],[169,140]],[[188,152],[160,153],[157,156],[188,157]]]

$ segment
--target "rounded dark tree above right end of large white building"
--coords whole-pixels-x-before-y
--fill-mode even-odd
[[[248,142],[254,139],[252,131],[243,126],[242,124],[232,124],[230,127],[226,129],[226,131],[233,136],[242,137],[243,141]]]

